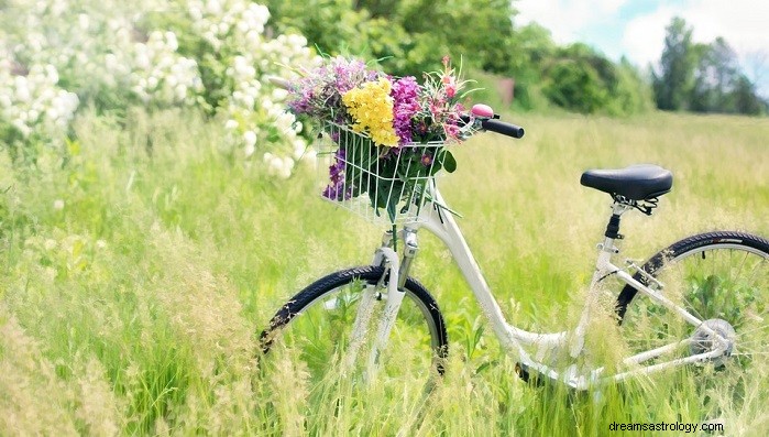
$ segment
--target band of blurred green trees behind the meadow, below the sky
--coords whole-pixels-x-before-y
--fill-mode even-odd
[[[506,0],[270,4],[278,31],[301,32],[332,55],[380,59],[396,76],[419,76],[449,54],[465,69],[513,78],[517,108],[627,114],[651,106],[648,85],[629,63],[615,65],[581,44],[558,47],[538,24],[515,29]]]

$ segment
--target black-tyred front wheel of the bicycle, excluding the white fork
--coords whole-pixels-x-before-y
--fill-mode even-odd
[[[321,381],[327,374],[334,371],[343,354],[341,350],[349,340],[347,330],[354,321],[356,309],[349,310],[350,304],[359,304],[361,292],[365,287],[376,287],[384,276],[384,285],[380,289],[381,299],[374,299],[374,314],[376,307],[383,307],[386,302],[387,270],[382,266],[360,266],[331,273],[308,285],[301,292],[288,301],[270,320],[268,327],[260,335],[260,345],[264,354],[274,353],[278,343],[284,346],[284,352],[288,350],[290,360],[304,361],[309,370],[311,383]],[[345,293],[350,289],[350,294]],[[382,374],[388,379],[402,373],[404,378],[417,375],[440,375],[443,373],[443,362],[448,357],[448,335],[446,323],[438,307],[438,303],[430,293],[416,280],[406,280],[403,292],[403,304],[398,312],[389,341],[384,353],[398,353],[399,362],[381,362],[384,368]],[[308,320],[308,318],[311,318]],[[421,319],[421,320],[420,320]],[[297,327],[297,325],[304,326]],[[366,341],[373,341],[377,321],[373,320]],[[322,338],[327,336],[329,338]],[[426,339],[426,336],[429,339]],[[287,338],[288,337],[288,338]],[[331,339],[331,337],[334,337]],[[328,341],[332,340],[332,341]],[[328,349],[328,350],[325,350]],[[361,350],[365,351],[365,345]],[[421,350],[424,353],[418,353]],[[428,354],[428,357],[424,357]],[[417,363],[427,364],[428,369],[414,369],[407,365],[413,357]],[[272,357],[265,359],[271,360]],[[360,357],[358,361],[365,361]],[[383,358],[382,361],[385,361]],[[392,361],[392,360],[391,360]],[[429,370],[429,371],[428,371]],[[354,373],[354,372],[353,372]]]

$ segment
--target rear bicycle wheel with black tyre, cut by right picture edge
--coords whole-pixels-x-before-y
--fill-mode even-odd
[[[704,325],[732,339],[726,354],[686,368],[706,413],[738,408],[746,387],[769,382],[769,241],[743,232],[706,232],[683,239],[653,255],[635,278],[657,288]],[[691,340],[671,360],[715,348],[715,341],[672,310],[627,285],[617,299],[622,334],[630,354]],[[648,362],[646,363],[648,364]]]

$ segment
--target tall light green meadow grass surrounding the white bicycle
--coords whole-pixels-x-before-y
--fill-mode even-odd
[[[580,186],[586,168],[650,162],[674,174],[652,217],[624,220],[625,256],[704,230],[769,236],[766,119],[514,121],[524,140],[460,145],[441,187],[519,326],[558,329],[580,308],[609,214],[607,196]],[[257,334],[272,314],[315,277],[366,263],[381,229],[320,201],[309,167],[275,181],[220,150],[219,124],[84,117],[66,163],[43,154],[14,168],[0,150],[0,435],[571,436],[703,419],[681,372],[600,396],[517,380],[491,334],[473,340],[482,313],[429,238],[413,272],[442,306],[452,348],[429,400],[342,386],[312,403],[300,370],[266,378]],[[763,435],[767,384],[724,412],[726,435]]]

